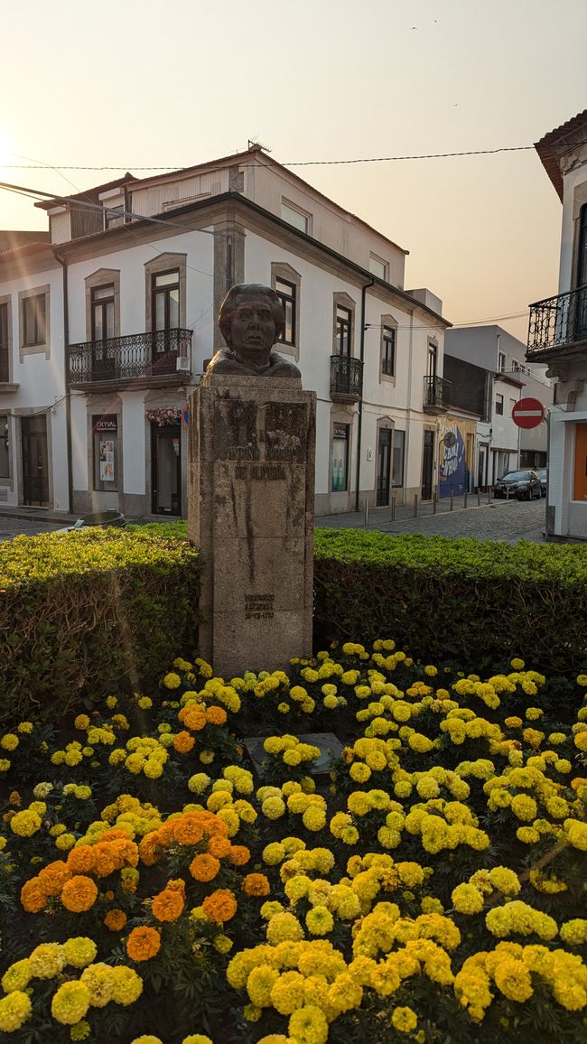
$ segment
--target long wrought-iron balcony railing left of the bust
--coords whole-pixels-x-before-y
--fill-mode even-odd
[[[189,358],[191,330],[154,330],[126,337],[70,345],[70,384],[124,381],[175,374],[178,358]]]

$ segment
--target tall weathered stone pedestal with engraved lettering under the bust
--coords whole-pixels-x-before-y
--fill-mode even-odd
[[[190,400],[188,535],[199,655],[231,678],[311,654],[315,394],[207,374]]]

